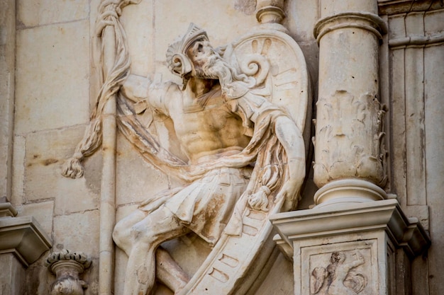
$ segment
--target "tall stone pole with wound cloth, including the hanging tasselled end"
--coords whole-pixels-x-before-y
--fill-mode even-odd
[[[112,231],[116,223],[116,93],[119,83],[130,71],[130,59],[126,46],[126,35],[119,21],[122,8],[138,4],[140,0],[102,0],[96,20],[96,36],[101,53],[101,81],[96,108],[91,122],[85,130],[72,158],[63,167],[62,175],[70,178],[82,177],[82,160],[102,146],[102,176],[100,202],[99,242],[99,294],[113,293]]]

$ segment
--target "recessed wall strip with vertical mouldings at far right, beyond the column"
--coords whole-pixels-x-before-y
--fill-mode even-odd
[[[407,216],[416,216],[430,231],[428,260],[417,259],[411,267],[413,294],[439,294],[436,277],[444,262],[443,245],[443,132],[433,127],[443,122],[440,101],[443,85],[443,6],[433,1],[397,5],[381,4],[389,33],[384,66],[391,81],[385,101],[391,112],[392,137],[389,157],[393,164],[389,179]],[[391,70],[389,70],[391,69]],[[384,98],[383,98],[384,99]],[[435,220],[435,221],[433,221]],[[428,281],[429,284],[423,284]]]

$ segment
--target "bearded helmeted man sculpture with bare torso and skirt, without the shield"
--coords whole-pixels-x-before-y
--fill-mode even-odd
[[[128,255],[125,295],[150,292],[161,243],[192,231],[215,245],[223,232],[241,232],[243,208],[267,212],[279,202],[284,210],[294,208],[305,175],[304,140],[292,117],[253,93],[258,81],[226,62],[204,30],[191,24],[170,45],[167,62],[182,85],[152,83],[135,75],[121,83],[126,105],[132,100],[171,118],[189,159],[178,165],[177,173],[187,185],[151,196],[116,224],[113,240]],[[119,122],[126,135],[135,128],[128,126]],[[136,147],[146,141],[134,134],[140,132],[127,137]],[[155,166],[168,162],[162,152],[152,150],[142,154]],[[177,294],[184,284],[173,291]]]

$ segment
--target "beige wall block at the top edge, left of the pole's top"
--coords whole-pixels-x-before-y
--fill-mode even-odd
[[[50,23],[77,21],[89,15],[88,0],[18,0],[19,27],[35,27]]]

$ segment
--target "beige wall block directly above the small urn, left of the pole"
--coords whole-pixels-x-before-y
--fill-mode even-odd
[[[99,210],[54,217],[54,247],[99,257]]]

